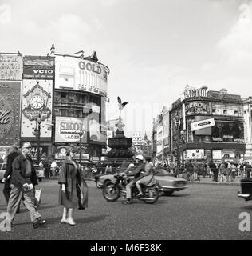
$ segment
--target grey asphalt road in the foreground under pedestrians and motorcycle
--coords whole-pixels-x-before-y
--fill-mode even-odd
[[[43,188],[39,212],[46,226],[34,230],[30,214],[22,205],[10,232],[0,239],[49,240],[169,240],[169,239],[251,239],[252,230],[238,229],[239,214],[247,212],[252,222],[252,202],[237,198],[239,186],[188,184],[187,190],[162,196],[154,205],[136,200],[123,205],[123,198],[107,202],[94,182],[88,181],[89,207],[76,210],[76,226],[61,224],[62,206],[58,206],[56,180],[40,182]],[[0,184],[0,190],[3,185]],[[0,213],[6,210],[0,193]],[[1,221],[1,220],[0,220]],[[252,223],[250,223],[252,226]]]

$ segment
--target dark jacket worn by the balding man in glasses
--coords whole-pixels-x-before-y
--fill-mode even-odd
[[[37,175],[35,167],[33,166],[33,160],[31,158],[31,176],[30,176],[30,182],[33,184],[33,186],[37,185]],[[19,188],[22,188],[23,185],[26,182],[26,179],[24,178],[26,174],[26,158],[23,156],[23,154],[18,154],[18,156],[14,159],[14,162],[12,163],[12,175],[10,177],[10,183],[14,184],[14,186],[17,186]]]

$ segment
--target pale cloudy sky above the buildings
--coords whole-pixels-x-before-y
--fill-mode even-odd
[[[152,134],[152,119],[185,86],[252,96],[252,1],[0,0],[0,52],[85,55],[108,75],[108,120]]]

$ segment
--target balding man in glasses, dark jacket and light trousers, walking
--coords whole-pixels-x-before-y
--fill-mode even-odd
[[[37,185],[36,170],[33,166],[30,142],[24,142],[21,153],[14,159],[12,174],[10,176],[10,198],[7,206],[7,213],[10,214],[10,225],[15,226],[13,221],[18,210],[18,205],[23,198],[26,208],[30,211],[30,218],[33,228],[45,224],[41,214],[34,205],[34,190]]]

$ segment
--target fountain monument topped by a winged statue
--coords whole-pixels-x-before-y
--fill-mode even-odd
[[[121,110],[124,109],[124,106],[128,104],[128,102],[122,103],[120,97],[117,97],[117,101],[119,106],[119,118],[116,124],[116,136],[108,139],[108,146],[111,148],[108,152],[108,162],[118,162],[121,164],[122,162],[130,162],[132,160],[133,154],[130,150],[132,138],[125,137],[123,129],[125,125],[120,116]]]

